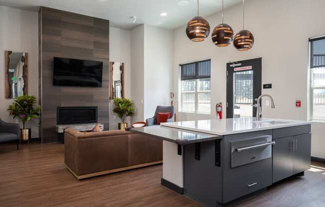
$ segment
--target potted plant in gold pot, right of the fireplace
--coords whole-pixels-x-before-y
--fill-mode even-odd
[[[114,108],[113,112],[117,113],[117,115],[122,119],[122,123],[119,123],[119,129],[125,129],[128,127],[128,123],[125,122],[125,118],[127,116],[134,115],[134,107],[133,103],[130,99],[126,98],[115,98],[113,99]]]

